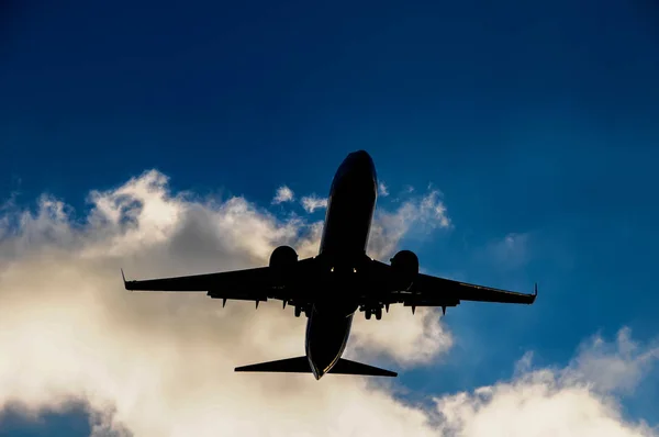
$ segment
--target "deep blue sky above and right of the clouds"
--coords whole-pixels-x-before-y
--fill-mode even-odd
[[[403,242],[423,267],[540,289],[530,307],[449,309],[456,348],[402,384],[466,390],[510,377],[526,350],[565,365],[596,332],[659,332],[649,2],[92,3],[10,10],[1,199],[82,210],[90,190],[156,168],[175,190],[269,208],[281,184],[326,195],[364,148],[392,192],[379,205],[406,186],[444,193],[454,228]],[[626,414],[659,423],[659,393],[639,393]],[[48,435],[72,435],[80,414]],[[12,421],[0,435],[37,435]]]

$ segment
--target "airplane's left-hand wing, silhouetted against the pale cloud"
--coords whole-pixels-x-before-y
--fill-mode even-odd
[[[295,266],[286,281],[276,277],[269,267],[257,267],[244,270],[231,270],[216,273],[193,274],[176,278],[147,279],[126,281],[126,290],[134,291],[180,291],[200,292],[214,299],[266,302],[278,299],[291,304],[308,303],[300,292],[310,274],[313,273],[313,258],[303,259]],[[122,270],[123,276],[123,270]]]

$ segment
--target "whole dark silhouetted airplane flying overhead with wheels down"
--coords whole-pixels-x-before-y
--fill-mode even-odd
[[[290,246],[279,246],[266,267],[177,278],[126,281],[126,290],[204,291],[210,298],[259,302],[282,301],[294,307],[295,317],[306,316],[305,355],[237,367],[236,372],[326,373],[396,377],[398,373],[342,358],[357,310],[381,320],[382,309],[456,306],[461,301],[533,304],[533,294],[499,290],[418,271],[418,258],[400,250],[390,265],[370,258],[367,244],[378,178],[370,155],[348,154],[330,189],[319,255],[299,259]]]

